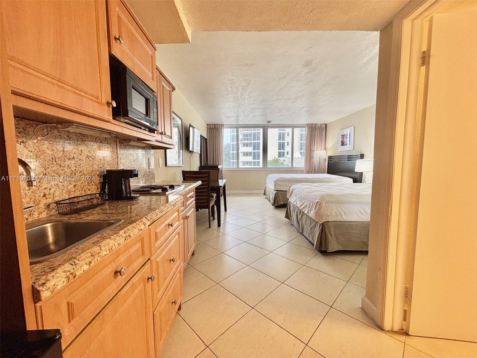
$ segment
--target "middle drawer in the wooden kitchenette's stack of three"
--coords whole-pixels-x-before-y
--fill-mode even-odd
[[[174,273],[182,263],[180,230],[176,231],[167,239],[166,243],[151,258],[152,273],[156,276],[153,282],[154,307],[159,303],[167,285],[171,282]]]

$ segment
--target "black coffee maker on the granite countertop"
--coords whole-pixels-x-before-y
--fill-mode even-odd
[[[101,194],[106,192],[107,187],[107,200],[138,200],[139,195],[131,195],[131,178],[137,178],[137,169],[106,169]]]

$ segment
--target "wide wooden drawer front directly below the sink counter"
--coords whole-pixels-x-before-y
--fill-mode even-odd
[[[60,328],[66,347],[148,260],[149,250],[146,228],[62,290],[35,304],[38,328]]]

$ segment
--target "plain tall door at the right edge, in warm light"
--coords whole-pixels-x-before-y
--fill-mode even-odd
[[[477,7],[466,1],[446,5],[428,27],[406,330],[477,341]]]

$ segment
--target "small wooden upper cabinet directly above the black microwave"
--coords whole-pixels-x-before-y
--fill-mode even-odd
[[[108,0],[109,51],[156,91],[156,46],[121,0]]]

